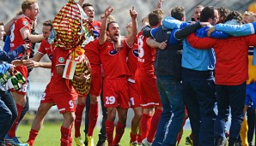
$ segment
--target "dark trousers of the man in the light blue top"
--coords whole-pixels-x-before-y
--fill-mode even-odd
[[[184,71],[184,69],[183,69]],[[215,83],[207,79],[207,72],[186,69],[182,75],[183,98],[192,127],[194,146],[214,145]],[[198,76],[191,76],[189,72]],[[196,73],[197,72],[197,73]]]

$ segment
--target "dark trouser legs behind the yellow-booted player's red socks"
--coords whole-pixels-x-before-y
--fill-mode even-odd
[[[88,112],[90,108],[90,98],[87,96],[86,98],[86,110],[85,110],[85,127],[84,133],[88,133]],[[104,107],[103,95],[101,92],[101,108],[102,108],[102,124],[101,124],[101,133],[99,134],[99,141],[105,141],[107,139],[106,129],[105,129],[105,122],[107,120],[107,109]]]

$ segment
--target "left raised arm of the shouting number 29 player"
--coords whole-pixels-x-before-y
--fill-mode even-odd
[[[113,8],[112,7],[108,7],[107,9],[105,9],[105,17],[102,19],[102,23],[101,23],[101,32],[100,32],[100,37],[99,37],[99,44],[102,45],[105,43],[105,41],[107,40],[107,17],[109,15],[111,15],[111,13],[113,12]]]

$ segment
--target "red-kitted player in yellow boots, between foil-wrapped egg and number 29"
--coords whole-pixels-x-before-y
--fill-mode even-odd
[[[99,55],[98,38],[100,36],[101,22],[94,20],[94,7],[90,3],[82,4],[84,13],[88,16],[88,22],[94,26],[94,41],[85,45],[85,55],[88,57],[88,61],[92,67],[92,81],[89,91],[89,126],[88,126],[88,146],[94,146],[93,131],[98,119],[98,98],[101,95],[102,77],[101,77],[101,59]],[[82,112],[86,104],[87,96],[78,96],[78,102],[76,106],[76,120],[75,120],[75,142],[77,145],[83,146],[80,127],[82,123]]]

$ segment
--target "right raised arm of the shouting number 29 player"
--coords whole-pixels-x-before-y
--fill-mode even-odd
[[[132,46],[137,35],[137,12],[135,11],[134,7],[130,9],[130,15],[132,23],[131,34],[126,38],[126,42],[129,46]]]

